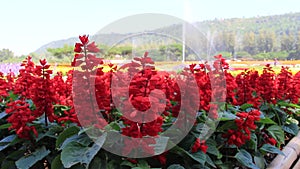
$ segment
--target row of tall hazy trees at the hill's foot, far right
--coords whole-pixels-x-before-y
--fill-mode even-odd
[[[276,34],[272,30],[249,31],[242,35],[223,31],[212,38],[216,51],[237,59],[300,59],[300,31],[286,30]]]

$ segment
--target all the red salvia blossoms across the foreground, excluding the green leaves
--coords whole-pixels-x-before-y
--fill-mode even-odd
[[[40,60],[40,64],[35,65],[31,57],[22,63],[23,68],[18,75],[9,73],[4,76],[0,73],[0,101],[7,103],[5,112],[9,114],[9,130],[15,131],[18,137],[31,141],[38,138],[39,132],[32,124],[42,116],[46,126],[48,122],[61,126],[92,124],[103,129],[107,124],[121,121],[123,127],[119,130],[123,135],[132,138],[157,136],[166,130],[164,124],[172,124],[171,120],[178,117],[181,109],[190,116],[187,121],[194,118],[191,112],[195,106],[198,112],[204,112],[207,118],[216,120],[221,118],[217,102],[225,102],[226,112],[230,111],[230,107],[252,105],[250,110],[234,112],[233,128],[221,133],[226,145],[242,147],[256,132],[257,122],[263,117],[261,107],[282,101],[299,104],[300,72],[292,74],[287,67],[282,67],[279,74],[266,65],[262,74],[256,70],[245,70],[233,76],[225,59],[217,55],[212,65],[192,64],[179,74],[172,74],[157,71],[146,52],[143,57],[134,58],[134,61],[119,69],[117,65],[109,64],[110,71],[104,72],[102,59],[95,55],[99,52],[96,44],[90,43],[88,36],[79,38],[72,62],[75,69],[67,73],[66,79],[62,73],[53,75],[46,60]],[[178,86],[176,77],[185,80],[184,87]],[[118,84],[113,83],[113,79],[118,80]],[[189,80],[195,80],[197,88],[191,87]],[[226,88],[223,88],[225,85]],[[112,92],[112,88],[118,90]],[[184,92],[191,94],[189,100],[182,100]],[[17,98],[13,99],[10,95]],[[91,97],[95,97],[95,101]],[[195,103],[195,100],[199,102]],[[63,106],[67,108],[56,111]],[[293,113],[288,107],[286,112]],[[194,126],[203,123],[201,118],[201,115],[197,116]],[[264,130],[261,134],[262,143],[282,144],[281,140]],[[154,144],[155,140],[150,142]],[[124,156],[133,151],[132,146],[137,146],[130,140],[124,140],[123,144]],[[146,153],[154,154],[154,149],[148,144],[139,146]],[[206,153],[207,149],[206,140],[200,138],[195,138],[189,146],[192,153]],[[167,152],[155,158],[166,165]],[[134,160],[131,159],[131,162]]]

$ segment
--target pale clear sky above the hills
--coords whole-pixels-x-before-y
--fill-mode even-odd
[[[49,42],[93,35],[143,13],[188,22],[300,12],[299,0],[1,0],[0,50],[29,54]]]

